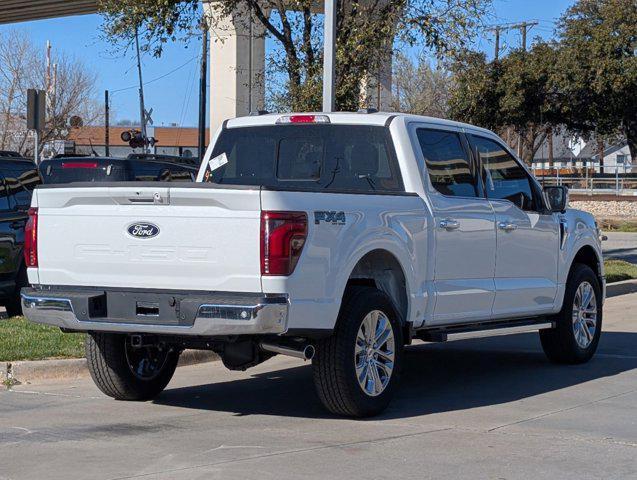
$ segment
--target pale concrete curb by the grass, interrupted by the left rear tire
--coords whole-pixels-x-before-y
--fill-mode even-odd
[[[179,357],[179,367],[219,360],[219,356],[207,350],[184,350]],[[0,384],[29,383],[36,380],[73,379],[89,376],[85,358],[61,360],[33,360],[2,362]]]

